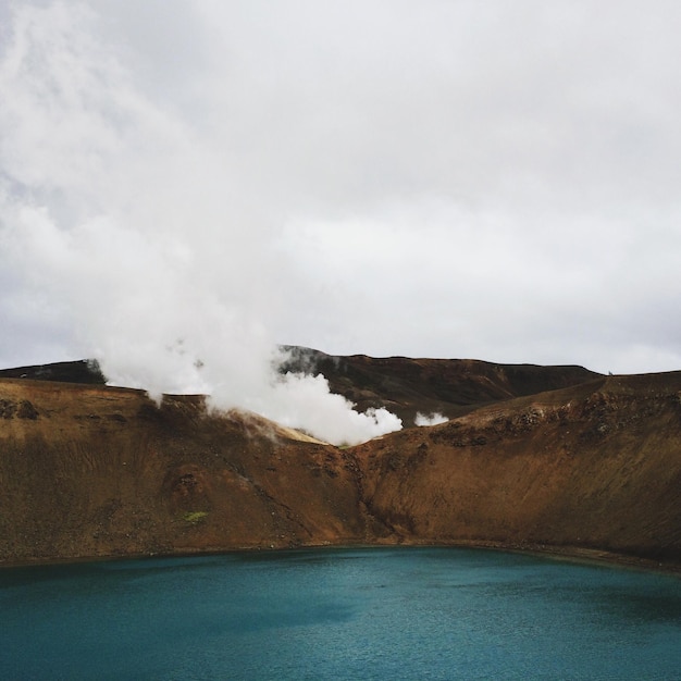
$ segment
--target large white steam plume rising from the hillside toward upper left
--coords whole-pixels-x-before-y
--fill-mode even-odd
[[[207,393],[333,443],[401,428],[357,413],[321,375],[277,373],[296,275],[276,201],[233,149],[140,88],[86,5],[17,4],[8,18],[0,312],[7,334],[35,320],[44,340],[26,342],[51,355],[25,361],[97,357],[114,384]]]

